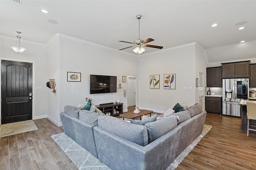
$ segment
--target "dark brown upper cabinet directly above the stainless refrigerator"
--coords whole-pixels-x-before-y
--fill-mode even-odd
[[[222,64],[222,78],[248,78],[250,62]]]

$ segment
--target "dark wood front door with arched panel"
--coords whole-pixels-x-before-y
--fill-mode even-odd
[[[32,63],[2,60],[2,124],[32,119]]]

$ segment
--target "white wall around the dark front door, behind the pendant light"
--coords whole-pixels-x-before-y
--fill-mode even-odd
[[[22,61],[33,63],[33,119],[41,119],[47,115],[47,60],[46,45],[31,41],[22,40],[22,47],[27,50],[24,53],[16,53],[11,46],[16,44],[16,39],[1,35],[0,37],[0,58],[1,60]],[[42,87],[42,90],[35,90]]]

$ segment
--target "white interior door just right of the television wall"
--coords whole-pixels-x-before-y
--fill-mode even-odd
[[[136,76],[127,76],[128,81],[128,106],[136,105]]]

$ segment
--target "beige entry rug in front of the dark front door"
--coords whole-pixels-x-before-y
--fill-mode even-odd
[[[16,135],[18,133],[24,133],[34,130],[37,130],[37,127],[32,120],[3,124],[0,125],[0,137]]]

